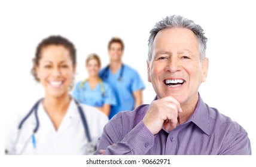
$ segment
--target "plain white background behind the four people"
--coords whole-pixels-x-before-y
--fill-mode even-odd
[[[74,42],[76,81],[87,76],[88,54],[96,52],[103,66],[108,63],[107,43],[119,36],[125,44],[123,61],[138,70],[147,86],[144,103],[151,103],[156,94],[147,82],[149,32],[161,18],[180,14],[202,26],[208,38],[208,79],[199,90],[203,100],[246,129],[254,153],[254,7],[253,1],[1,1],[1,134],[10,113],[31,109],[44,95],[30,70],[35,47],[50,35]]]

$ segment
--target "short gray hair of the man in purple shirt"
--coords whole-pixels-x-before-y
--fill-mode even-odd
[[[154,38],[160,30],[172,28],[172,27],[181,27],[190,29],[196,36],[197,41],[199,41],[199,51],[200,59],[203,60],[206,56],[206,42],[207,38],[201,26],[194,23],[192,20],[188,20],[185,17],[179,15],[167,16],[163,20],[156,23],[156,25],[150,31],[150,38],[148,39],[148,61],[151,62],[152,59],[152,46]]]

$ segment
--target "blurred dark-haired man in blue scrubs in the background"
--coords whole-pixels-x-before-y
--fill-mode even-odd
[[[109,119],[121,111],[132,111],[142,104],[142,90],[145,88],[139,73],[121,60],[124,44],[120,38],[108,43],[109,65],[99,72],[100,78],[111,86],[117,104],[111,107]]]

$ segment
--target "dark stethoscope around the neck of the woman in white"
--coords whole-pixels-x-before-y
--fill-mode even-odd
[[[26,141],[26,143],[24,144],[24,146],[23,146],[23,148],[22,148],[22,150],[20,151],[19,154],[23,153],[23,151],[25,150],[26,146],[29,143],[30,138],[32,138],[33,148],[34,149],[36,148],[35,134],[36,134],[36,132],[38,131],[38,128],[39,128],[38,106],[39,106],[39,103],[41,103],[41,101],[42,101],[42,99],[38,100],[34,104],[32,109],[29,111],[29,113],[19,123],[19,127],[18,127],[19,132],[18,133],[20,134],[20,130],[22,129],[22,126],[24,125],[25,121],[28,119],[29,116],[32,115],[32,113],[35,113],[35,120],[36,120],[35,128],[33,129],[31,137],[29,137],[29,139]],[[83,109],[82,109],[82,107],[80,106],[80,104],[78,103],[77,100],[75,100],[75,104],[77,104],[78,112],[80,114],[80,117],[81,117],[81,120],[82,120],[83,126],[84,126],[84,132],[85,132],[86,138],[88,140],[88,143],[86,144],[87,145],[86,146],[86,153],[87,154],[93,154],[96,150],[96,146],[92,142],[92,137],[91,137],[90,132],[89,132],[88,124],[87,124],[87,121],[86,121],[86,116],[84,115]],[[19,136],[20,136],[19,134],[18,134],[18,137],[17,137],[17,141],[19,140]]]

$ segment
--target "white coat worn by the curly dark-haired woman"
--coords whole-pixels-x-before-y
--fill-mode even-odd
[[[103,127],[108,117],[95,107],[81,104],[89,126],[92,143],[97,146]],[[83,122],[78,112],[77,104],[72,100],[68,111],[56,131],[42,104],[38,106],[39,129],[35,134],[35,148],[32,143],[32,133],[36,125],[35,114],[23,123],[18,130],[20,121],[28,114],[17,115],[16,119],[8,121],[5,129],[5,149],[7,154],[89,154],[86,148],[88,140]]]

